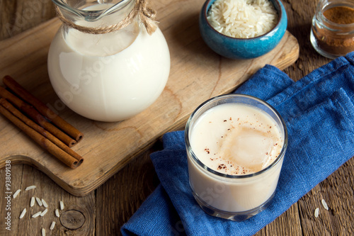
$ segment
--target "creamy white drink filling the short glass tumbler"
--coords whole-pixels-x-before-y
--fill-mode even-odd
[[[268,167],[280,154],[284,137],[267,113],[241,103],[210,108],[190,131],[195,156],[210,169],[245,175]],[[227,179],[210,174],[188,158],[190,184],[210,206],[228,212],[251,210],[272,196],[281,162],[267,172],[247,179]]]

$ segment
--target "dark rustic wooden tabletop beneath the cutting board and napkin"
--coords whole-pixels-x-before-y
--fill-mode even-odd
[[[287,10],[287,30],[295,35],[300,46],[299,59],[284,72],[297,81],[330,60],[318,55],[309,42],[317,1],[282,2]],[[50,0],[0,0],[0,40],[53,17],[55,11]],[[40,235],[42,227],[47,228],[47,235],[120,235],[120,227],[159,184],[149,159],[149,154],[156,150],[161,150],[159,141],[84,197],[72,196],[33,167],[25,164],[11,165],[11,190],[23,189],[17,198],[11,199],[11,210],[6,209],[8,202],[3,197],[6,196],[5,181],[8,172],[6,173],[6,169],[0,170],[0,235]],[[256,235],[354,235],[353,165],[352,158]],[[31,185],[37,188],[24,191],[25,187]],[[21,210],[28,208],[33,194],[45,199],[50,211],[42,218],[18,219]],[[321,199],[328,203],[328,211],[321,206]],[[59,208],[59,201],[64,203],[64,210],[60,210],[60,219],[54,213],[54,209]],[[320,213],[315,218],[314,209],[317,207],[320,208]],[[39,206],[33,208],[43,209]],[[69,209],[72,211],[66,212]],[[5,225],[8,212],[11,213],[11,231],[6,230]],[[70,214],[75,215],[75,218],[66,217]],[[56,222],[56,226],[50,234],[48,228],[52,221]]]

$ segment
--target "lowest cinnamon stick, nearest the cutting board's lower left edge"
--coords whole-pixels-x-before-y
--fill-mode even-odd
[[[67,152],[64,152],[64,150],[60,149],[55,145],[53,142],[50,142],[47,138],[44,136],[40,135],[37,131],[33,130],[33,128],[30,128],[30,126],[26,125],[23,123],[20,119],[18,119],[16,116],[13,116],[12,113],[10,113],[4,106],[0,105],[0,113],[8,118],[8,120],[11,120],[11,122],[16,125],[18,128],[23,130],[23,132],[28,135],[31,139],[33,139],[35,142],[38,143],[43,149],[47,150],[52,154],[53,156],[57,157],[60,161],[62,161],[64,164],[66,164],[68,167],[75,169],[78,167],[79,161],[72,157],[70,154]]]

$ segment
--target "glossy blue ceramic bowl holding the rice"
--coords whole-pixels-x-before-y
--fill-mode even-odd
[[[202,39],[217,54],[231,59],[251,59],[265,55],[278,45],[287,29],[287,13],[280,0],[270,0],[278,11],[279,22],[264,35],[255,38],[232,38],[215,30],[207,21],[207,11],[215,0],[207,0],[199,16]]]

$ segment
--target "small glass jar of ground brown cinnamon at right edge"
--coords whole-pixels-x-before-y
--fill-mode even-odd
[[[354,2],[321,0],[312,18],[310,40],[324,57],[334,59],[354,51]]]

